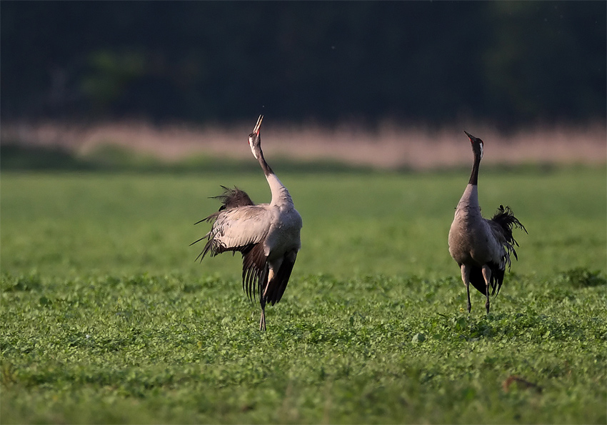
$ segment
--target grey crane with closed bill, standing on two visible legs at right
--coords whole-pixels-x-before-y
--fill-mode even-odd
[[[461,279],[468,296],[468,314],[471,310],[470,288],[472,284],[486,296],[489,314],[489,286],[491,295],[499,294],[506,266],[510,269],[511,256],[518,260],[513,237],[515,228],[527,233],[525,226],[514,216],[509,206],[500,205],[491,219],[481,216],[478,205],[478,169],[483,158],[484,142],[464,131],[472,145],[474,161],[470,180],[459,200],[451,229],[449,229],[449,254],[461,269]],[[496,294],[497,289],[497,294]]]

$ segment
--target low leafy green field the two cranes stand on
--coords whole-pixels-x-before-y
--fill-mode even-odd
[[[469,170],[275,169],[302,249],[266,333],[239,255],[189,246],[261,171],[3,172],[0,421],[606,423],[604,168],[481,169],[528,229],[488,316],[448,254]]]

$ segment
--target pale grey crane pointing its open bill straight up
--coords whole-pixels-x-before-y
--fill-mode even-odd
[[[254,204],[245,191],[221,186],[224,193],[214,198],[221,201],[219,211],[196,222],[211,222],[211,230],[192,242],[206,239],[204,249],[196,260],[206,254],[216,256],[232,251],[242,254],[242,287],[251,301],[259,296],[261,318],[259,330],[266,330],[266,303],[274,306],[284,294],[291,272],[301,248],[301,215],[295,209],[293,199],[272,171],[261,150],[261,121],[257,119],[249,134],[251,152],[270,186],[272,199],[269,204]]]

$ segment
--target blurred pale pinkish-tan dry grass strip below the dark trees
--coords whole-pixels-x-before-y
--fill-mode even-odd
[[[252,123],[253,121],[251,121]],[[166,161],[192,155],[246,159],[251,153],[247,135],[253,124],[154,126],[144,121],[102,124],[46,122],[3,123],[1,141],[28,146],[62,146],[89,154],[106,144],[123,146]],[[606,164],[607,130],[604,124],[537,127],[502,134],[491,126],[405,128],[392,124],[370,131],[342,125],[289,126],[264,121],[266,156],[299,161],[332,160],[385,169],[438,169],[470,162],[463,129],[485,141],[485,164]]]

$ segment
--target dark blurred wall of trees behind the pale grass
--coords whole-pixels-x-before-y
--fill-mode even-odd
[[[605,1],[2,1],[2,119],[606,117]]]

